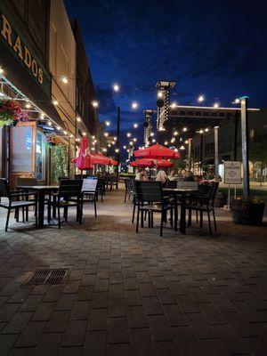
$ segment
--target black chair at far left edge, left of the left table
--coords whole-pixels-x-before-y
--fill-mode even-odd
[[[34,196],[34,200],[25,200],[25,197]],[[1,198],[7,198],[8,201],[2,201]],[[20,199],[21,198],[21,199]],[[28,192],[25,191],[11,191],[9,189],[9,183],[6,179],[0,178],[0,206],[7,209],[6,223],[5,223],[5,231],[8,229],[8,223],[10,218],[10,212],[12,209],[17,211],[19,214],[20,207],[22,208],[23,214],[23,223],[24,223],[24,208],[28,208],[28,206],[35,206],[36,211],[36,226],[37,226],[37,194],[36,192]],[[19,221],[19,216],[15,216],[17,221]]]

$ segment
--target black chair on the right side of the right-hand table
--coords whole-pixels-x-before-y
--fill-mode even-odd
[[[211,219],[210,213],[213,213],[214,217],[214,230],[217,230],[216,219],[215,219],[215,212],[214,212],[214,198],[216,196],[217,190],[219,188],[219,182],[212,182],[209,187],[205,189],[200,188],[200,194],[196,194],[190,198],[190,202],[187,205],[187,209],[189,209],[189,222],[188,225],[191,225],[191,212],[196,211],[197,216],[197,223],[198,223],[198,213],[200,215],[199,218],[199,225],[203,227],[203,213],[207,214],[208,220],[208,228],[209,234],[212,235],[212,226],[211,226]],[[201,193],[202,192],[202,193]]]

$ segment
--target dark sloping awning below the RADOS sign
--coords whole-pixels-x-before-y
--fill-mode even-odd
[[[53,106],[51,88],[49,90],[49,95],[44,93],[40,85],[37,85],[35,80],[28,75],[25,66],[19,61],[14,60],[11,53],[6,50],[4,51],[4,47],[1,43],[0,66],[4,69],[4,77],[6,77],[12,85],[27,96],[30,101],[33,101],[47,117],[53,119],[55,124],[61,126],[62,129],[66,129],[66,125],[62,121],[61,116]]]

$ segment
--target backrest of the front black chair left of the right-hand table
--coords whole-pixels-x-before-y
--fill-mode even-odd
[[[162,201],[161,182],[141,182],[136,181],[137,198],[144,201]]]

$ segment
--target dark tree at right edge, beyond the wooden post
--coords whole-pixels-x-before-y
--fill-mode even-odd
[[[249,146],[249,160],[261,163],[260,182],[263,182],[263,169],[267,166],[267,135],[259,136]]]

